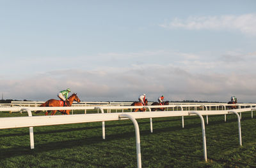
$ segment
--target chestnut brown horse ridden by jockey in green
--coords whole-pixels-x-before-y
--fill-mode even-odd
[[[73,101],[76,102],[81,102],[80,99],[77,97],[76,94],[72,94],[70,95],[70,97],[68,97],[68,103],[67,106],[71,106]],[[46,101],[45,103],[41,104],[40,107],[63,107],[63,101],[59,101],[59,100],[55,100],[55,99],[50,99],[49,101]],[[52,111],[52,113],[51,113]],[[55,113],[57,112],[57,110],[51,110],[50,113],[51,115],[55,115]],[[70,110],[58,110],[62,113],[62,115],[69,115],[69,111]],[[38,113],[39,111],[36,111],[36,113]],[[48,111],[45,112],[45,115],[48,115]]]

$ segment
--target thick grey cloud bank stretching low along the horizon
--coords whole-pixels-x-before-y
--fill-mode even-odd
[[[10,99],[36,101],[58,99],[56,94],[65,88],[71,88],[83,101],[136,101],[143,93],[149,101],[157,101],[161,94],[172,101],[227,102],[231,95],[242,102],[256,99],[254,73],[194,73],[184,67],[151,64],[115,70],[51,71],[24,80],[1,80],[0,87]]]

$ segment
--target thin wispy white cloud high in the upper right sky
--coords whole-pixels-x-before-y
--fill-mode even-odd
[[[256,14],[188,17],[186,20],[174,18],[171,22],[159,26],[168,29],[237,30],[247,35],[256,36]]]

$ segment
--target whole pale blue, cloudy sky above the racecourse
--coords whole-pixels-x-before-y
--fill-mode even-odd
[[[0,0],[0,94],[256,102],[256,1]]]

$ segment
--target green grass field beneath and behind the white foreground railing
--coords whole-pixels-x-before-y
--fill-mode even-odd
[[[81,112],[83,113],[83,112]],[[161,112],[159,112],[161,113]],[[41,113],[40,115],[43,115]],[[255,115],[255,112],[254,112]],[[19,113],[0,113],[21,116]],[[23,113],[22,116],[28,116]],[[207,157],[204,162],[202,129],[198,116],[138,120],[142,167],[256,167],[256,119],[243,113],[239,146],[236,115],[209,116],[205,125]],[[35,149],[29,129],[0,130],[0,167],[136,167],[134,126],[129,120],[34,127]]]

